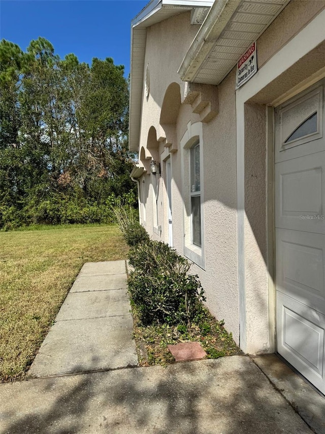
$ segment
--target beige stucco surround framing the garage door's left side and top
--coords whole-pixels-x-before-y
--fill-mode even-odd
[[[324,12],[236,92],[238,209],[244,210],[238,214],[241,346],[252,354],[276,348],[273,173],[272,164],[268,165],[273,158],[273,109],[269,106],[298,94],[324,74],[324,32],[320,31]]]

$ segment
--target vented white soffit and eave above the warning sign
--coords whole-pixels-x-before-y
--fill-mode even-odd
[[[179,68],[181,79],[219,84],[289,1],[216,0]]]

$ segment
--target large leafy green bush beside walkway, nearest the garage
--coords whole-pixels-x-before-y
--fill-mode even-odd
[[[188,274],[188,261],[160,241],[148,241],[129,251],[129,293],[144,325],[157,322],[188,324],[200,317],[205,300],[197,275]]]

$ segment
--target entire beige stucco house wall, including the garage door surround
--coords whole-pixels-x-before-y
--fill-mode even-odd
[[[270,163],[273,112],[269,106],[295,86],[299,88],[303,80],[308,82],[324,66],[322,46],[305,40],[304,48],[300,46],[304,55],[299,57],[296,52],[298,36],[319,19],[324,5],[323,1],[291,1],[257,40],[257,74],[236,92],[234,68],[218,86],[218,114],[202,123],[204,264],[194,264],[191,272],[199,275],[211,313],[225,321],[235,341],[251,354],[275,349]],[[140,179],[148,192],[145,227],[153,239],[168,242],[166,160],[170,158],[173,244],[181,254],[186,217],[181,140],[189,125],[200,122],[201,117],[193,112],[193,105],[183,102],[186,84],[177,70],[197,31],[198,27],[190,25],[189,13],[155,24],[147,30],[145,54],[150,94],[142,101],[140,164],[148,173],[151,157],[161,164],[161,177],[146,174]],[[161,108],[171,83],[179,85],[169,99],[171,113],[176,115],[168,121],[170,124],[160,125]],[[152,127],[155,140],[149,134]],[[153,228],[155,195],[148,187],[153,177],[159,181],[161,231]]]

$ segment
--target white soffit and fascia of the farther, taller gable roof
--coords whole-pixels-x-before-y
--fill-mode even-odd
[[[197,8],[210,8],[212,5],[213,0],[151,0],[132,20],[128,139],[130,151],[137,152],[139,147],[147,27],[180,13]]]

